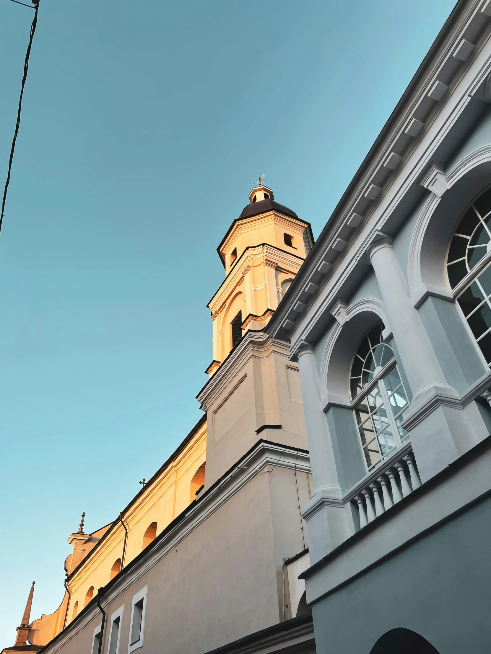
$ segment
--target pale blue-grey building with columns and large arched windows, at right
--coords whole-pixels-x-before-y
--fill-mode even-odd
[[[491,1],[458,2],[268,325],[319,653],[489,651]]]

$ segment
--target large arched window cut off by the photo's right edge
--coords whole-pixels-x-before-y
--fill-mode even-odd
[[[450,287],[488,366],[491,366],[491,188],[457,223],[446,255]]]

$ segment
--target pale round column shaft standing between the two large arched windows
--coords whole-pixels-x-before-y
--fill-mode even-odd
[[[386,239],[371,245],[368,255],[413,396],[428,387],[448,387],[418,309],[410,301],[409,288],[391,241]]]

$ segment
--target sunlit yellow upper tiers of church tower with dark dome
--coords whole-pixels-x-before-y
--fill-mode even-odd
[[[310,224],[260,184],[217,252],[225,281],[208,303],[213,320],[210,377],[247,330],[263,330],[314,244]]]

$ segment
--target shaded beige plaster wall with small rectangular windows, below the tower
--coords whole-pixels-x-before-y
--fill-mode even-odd
[[[128,651],[132,596],[148,585],[138,652],[202,654],[283,619],[283,558],[302,549],[293,470],[264,470],[209,515],[105,611],[124,604],[120,653]],[[305,473],[299,492],[308,496]],[[288,601],[288,598],[287,598]],[[59,651],[90,652],[94,619]],[[103,651],[107,651],[109,628]],[[48,648],[47,652],[52,649]]]

